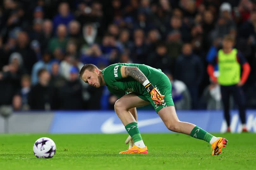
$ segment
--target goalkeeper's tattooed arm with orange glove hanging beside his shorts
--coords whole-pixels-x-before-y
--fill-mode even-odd
[[[140,82],[149,92],[152,100],[156,104],[160,105],[163,102],[164,95],[161,95],[161,93],[149,82],[147,77],[140,71],[138,67],[121,66],[120,72],[123,78],[130,76]]]

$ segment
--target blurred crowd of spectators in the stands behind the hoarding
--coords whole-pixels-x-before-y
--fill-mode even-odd
[[[251,65],[256,108],[255,0],[3,0],[0,20],[0,105],[14,110],[112,109],[117,98],[78,72],[117,62],[162,69],[178,109],[220,109],[206,67],[227,34]]]

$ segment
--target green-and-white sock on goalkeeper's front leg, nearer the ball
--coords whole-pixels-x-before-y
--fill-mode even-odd
[[[133,139],[134,145],[136,145],[138,148],[146,147],[140,135],[137,122],[129,123],[128,125],[125,126],[125,129]]]

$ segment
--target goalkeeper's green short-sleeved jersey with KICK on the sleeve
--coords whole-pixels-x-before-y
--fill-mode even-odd
[[[124,96],[127,92],[135,92],[137,94],[148,95],[145,87],[132,77],[122,78],[121,66],[138,67],[140,71],[148,78],[152,85],[157,85],[164,73],[160,69],[156,69],[144,64],[126,64],[116,63],[104,68],[101,73],[105,80],[108,90],[117,97]]]

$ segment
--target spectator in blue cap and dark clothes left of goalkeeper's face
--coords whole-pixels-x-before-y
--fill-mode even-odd
[[[82,84],[78,79],[78,68],[71,67],[68,81],[60,89],[60,109],[82,109]]]

